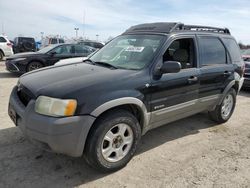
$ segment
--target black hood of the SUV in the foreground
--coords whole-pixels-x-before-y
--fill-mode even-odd
[[[20,77],[20,84],[35,97],[46,95],[55,98],[71,97],[78,91],[93,92],[131,80],[138,71],[109,69],[88,63],[51,66],[26,73]],[[114,82],[115,80],[115,82]]]

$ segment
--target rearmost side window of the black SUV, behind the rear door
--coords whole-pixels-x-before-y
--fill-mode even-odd
[[[222,41],[227,47],[227,50],[229,51],[232,61],[233,62],[239,62],[241,61],[241,54],[240,54],[240,48],[235,40],[231,38],[222,38]]]

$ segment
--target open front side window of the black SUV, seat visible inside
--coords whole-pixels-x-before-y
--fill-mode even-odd
[[[196,65],[195,45],[192,38],[178,39],[171,43],[163,55],[163,61],[178,61],[182,69]]]

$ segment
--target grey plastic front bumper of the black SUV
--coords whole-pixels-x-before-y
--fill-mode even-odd
[[[17,95],[17,87],[11,93],[9,108],[16,112],[16,125],[24,135],[38,146],[56,153],[80,157],[88,132],[95,121],[89,115],[64,118],[48,117],[34,111],[35,100],[24,106]]]

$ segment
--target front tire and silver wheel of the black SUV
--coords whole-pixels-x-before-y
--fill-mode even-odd
[[[84,157],[94,168],[112,172],[126,166],[141,138],[137,119],[126,110],[106,113],[93,125]]]

